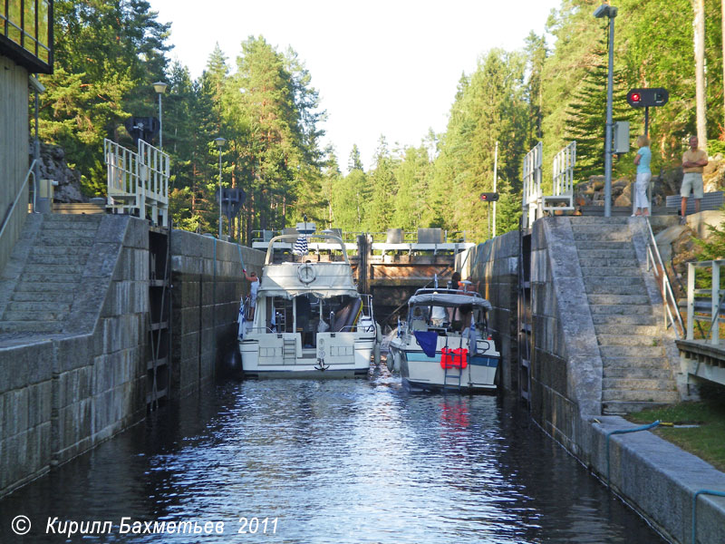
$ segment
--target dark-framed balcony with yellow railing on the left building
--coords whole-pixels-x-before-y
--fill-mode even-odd
[[[0,0],[0,54],[53,72],[53,0]]]

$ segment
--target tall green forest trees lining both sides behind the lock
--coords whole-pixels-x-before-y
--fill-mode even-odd
[[[593,16],[598,4],[563,0],[519,50],[481,53],[476,70],[451,89],[446,131],[421,135],[417,146],[391,145],[381,136],[365,170],[356,146],[322,147],[325,112],[314,74],[293,49],[280,51],[263,36],[240,40],[233,57],[217,46],[195,80],[186,66],[169,60],[169,24],[145,0],[55,0],[55,71],[42,77],[40,135],[63,146],[89,196],[104,195],[103,139],[131,147],[123,121],[156,116],[151,83],[165,81],[163,143],[171,156],[170,207],[178,228],[218,228],[214,139],[221,136],[227,140],[222,183],[247,193],[232,225],[235,238],[245,242],[254,230],[294,225],[304,215],[347,231],[440,227],[482,240],[490,209],[478,195],[493,189],[497,141],[498,233],[517,228],[522,160],[537,141],[544,142],[545,183],[556,151],[571,140],[577,141],[575,180],[604,173],[608,28],[606,19]],[[614,120],[628,119],[633,136],[641,133],[643,112],[626,104],[627,90],[670,92],[669,103],[650,112],[652,171],[678,164],[687,135],[703,123],[710,152],[721,146],[720,2],[615,4]],[[704,25],[706,65],[700,122],[697,21]],[[501,24],[517,22],[512,16]],[[632,156],[614,161],[615,176],[632,172]]]

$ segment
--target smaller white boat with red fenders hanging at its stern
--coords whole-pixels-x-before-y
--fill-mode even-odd
[[[478,293],[418,289],[391,340],[388,368],[411,390],[495,391],[501,355],[488,331],[490,309]]]

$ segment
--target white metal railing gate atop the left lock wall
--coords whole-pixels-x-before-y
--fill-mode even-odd
[[[169,155],[143,140],[136,152],[105,139],[103,157],[108,179],[106,208],[169,227]]]

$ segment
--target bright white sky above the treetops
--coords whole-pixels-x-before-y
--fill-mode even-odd
[[[171,23],[169,53],[204,71],[218,43],[234,71],[241,43],[265,37],[287,46],[312,76],[343,172],[357,144],[365,170],[381,135],[389,149],[419,146],[429,129],[445,131],[459,79],[494,47],[522,49],[542,34],[560,0],[150,0]],[[398,144],[396,146],[396,144]]]

